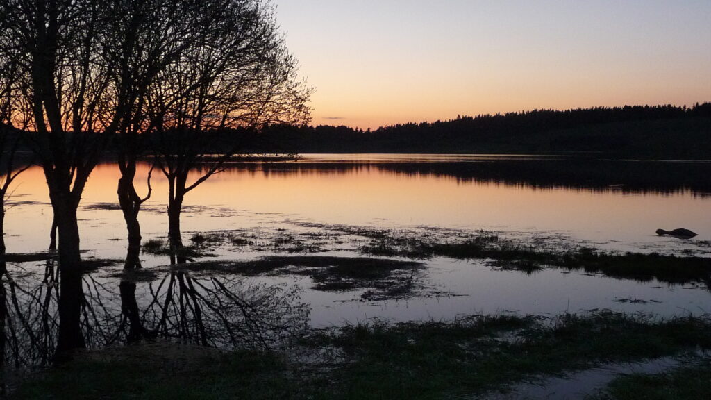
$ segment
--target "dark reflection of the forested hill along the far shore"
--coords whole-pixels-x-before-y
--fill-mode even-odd
[[[405,177],[455,179],[459,183],[495,183],[532,188],[620,191],[624,194],[711,194],[708,162],[614,161],[571,157],[442,157],[353,159],[336,162],[306,157],[299,162],[233,164],[269,175],[387,172]]]

